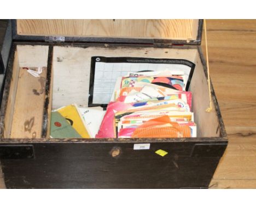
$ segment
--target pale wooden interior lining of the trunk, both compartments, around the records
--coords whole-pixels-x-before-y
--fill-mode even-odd
[[[208,85],[197,47],[189,49],[155,47],[75,47],[54,46],[53,63],[48,67],[49,46],[18,45],[15,51],[7,109],[4,138],[42,138],[42,127],[49,126],[43,118],[47,70],[51,71],[49,111],[71,103],[88,106],[90,66],[92,56],[147,57],[187,59],[195,63],[190,83],[193,93],[192,111],[197,124],[197,137],[222,137],[216,109],[211,113]],[[26,68],[42,67],[39,77],[28,74]],[[48,135],[49,137],[49,129]],[[193,139],[193,138],[191,138]]]

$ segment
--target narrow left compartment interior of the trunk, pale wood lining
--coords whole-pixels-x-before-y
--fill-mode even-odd
[[[41,138],[48,46],[18,45],[4,113],[5,138]],[[25,68],[42,66],[34,77]]]

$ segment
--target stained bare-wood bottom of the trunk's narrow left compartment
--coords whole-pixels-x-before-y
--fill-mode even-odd
[[[45,81],[46,68],[39,77],[20,69],[10,138],[42,137]]]

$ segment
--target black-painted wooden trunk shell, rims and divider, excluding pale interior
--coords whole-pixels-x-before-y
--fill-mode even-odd
[[[200,46],[170,45],[170,43],[184,44],[185,41],[170,42],[169,40],[166,45],[163,40],[149,42],[147,39],[143,42],[142,39],[112,38],[99,41],[97,38],[72,39],[68,37],[66,40],[71,42],[45,43],[44,36],[31,37],[15,34],[15,21],[13,23],[13,37],[17,42],[13,43],[11,49],[2,109],[5,109],[7,105],[16,45],[49,45],[49,69],[51,69],[52,48],[56,45],[97,47],[104,46],[104,42],[108,42],[107,47],[150,46],[184,50],[193,47],[199,51],[203,70],[205,74],[207,73]],[[202,21],[200,21],[199,30],[197,40],[190,42],[191,45],[201,42]],[[48,70],[47,80],[50,72],[51,70]],[[48,88],[49,86],[46,85],[46,89]],[[213,89],[211,93],[218,117],[219,137],[119,140],[46,139],[44,137],[47,126],[44,126],[41,139],[0,138],[0,159],[5,185],[7,188],[207,188],[228,144]],[[46,111],[48,104],[46,103],[44,109],[45,118],[48,116]],[[133,150],[134,144],[143,143],[150,143],[150,149]],[[168,154],[164,157],[156,154],[155,151],[159,149]]]

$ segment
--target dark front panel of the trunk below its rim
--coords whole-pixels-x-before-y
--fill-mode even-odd
[[[23,155],[14,148],[20,159],[1,155],[1,163],[7,188],[206,188],[226,142],[195,144],[38,143],[32,154],[31,145]]]

